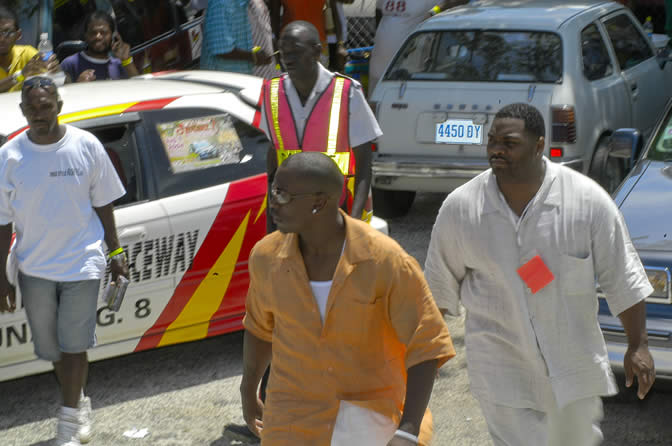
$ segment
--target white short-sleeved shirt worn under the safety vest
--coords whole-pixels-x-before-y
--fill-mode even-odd
[[[306,122],[310,117],[315,104],[318,99],[322,97],[322,93],[329,87],[331,80],[334,78],[334,73],[327,70],[318,63],[319,72],[317,75],[317,81],[313,90],[308,96],[306,104],[301,104],[301,99],[299,99],[299,94],[292,83],[292,80],[287,76],[284,80],[285,91],[287,92],[287,101],[289,102],[289,107],[292,109],[292,115],[294,116],[294,123],[296,125],[296,130],[299,133],[299,144],[303,140],[303,131],[306,127]],[[378,121],[371,111],[371,107],[367,104],[366,99],[364,99],[364,94],[362,93],[362,87],[357,81],[353,81],[352,88],[350,89],[350,122],[349,122],[349,136],[350,136],[350,147],[355,148],[359,145],[373,141],[378,138],[383,132],[378,126]],[[329,119],[329,117],[326,117]],[[261,122],[259,123],[259,128],[266,133],[266,137],[271,140],[271,134],[269,133],[268,123],[266,122],[266,110],[265,103],[262,102],[261,109]],[[326,145],[326,141],[325,141]]]

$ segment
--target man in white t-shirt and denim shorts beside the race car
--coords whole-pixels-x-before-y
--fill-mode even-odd
[[[112,281],[128,277],[128,266],[112,204],[124,187],[93,135],[58,123],[62,105],[51,79],[25,81],[21,111],[30,128],[0,149],[0,312],[16,309],[18,282],[35,354],[53,362],[60,384],[56,444],[72,446],[91,437],[83,389],[106,266],[103,238]],[[18,277],[6,273],[12,224]]]

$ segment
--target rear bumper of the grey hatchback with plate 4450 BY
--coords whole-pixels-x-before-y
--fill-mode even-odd
[[[583,171],[583,160],[567,160],[558,164]],[[421,161],[394,160],[379,157],[373,161],[373,186],[389,190],[420,192],[450,192],[490,168],[482,161]]]

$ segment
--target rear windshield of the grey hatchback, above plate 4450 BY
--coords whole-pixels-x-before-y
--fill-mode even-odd
[[[397,53],[384,79],[560,82],[562,42],[539,31],[420,32]]]

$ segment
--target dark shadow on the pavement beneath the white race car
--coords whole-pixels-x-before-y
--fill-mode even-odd
[[[240,375],[242,360],[231,358],[242,357],[243,333],[237,332],[97,361],[89,367],[87,394],[99,409],[186,389]],[[0,431],[52,418],[60,405],[53,372],[1,382],[0,395]],[[31,401],[33,395],[51,398]]]

